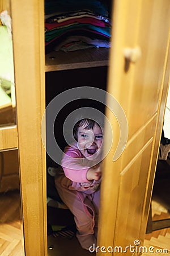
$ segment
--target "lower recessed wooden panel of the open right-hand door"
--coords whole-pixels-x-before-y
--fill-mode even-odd
[[[139,238],[139,230],[142,220],[143,201],[145,199],[145,187],[147,172],[149,170],[151,156],[152,139],[143,148],[137,159],[133,159],[128,167],[121,172],[120,194],[118,198],[117,221],[116,221],[116,241],[114,246],[134,245],[134,241]],[[129,179],[129,176],[131,179]],[[137,221],[138,220],[138,221]],[[126,236],[122,242],[122,226]],[[134,228],[135,227],[135,228]],[[130,253],[130,252],[129,252]],[[128,254],[127,255],[131,255]]]

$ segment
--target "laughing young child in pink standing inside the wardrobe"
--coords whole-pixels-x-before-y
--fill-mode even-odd
[[[78,121],[75,143],[67,146],[56,175],[56,188],[63,203],[74,214],[76,237],[84,249],[97,240],[103,132],[92,119]]]

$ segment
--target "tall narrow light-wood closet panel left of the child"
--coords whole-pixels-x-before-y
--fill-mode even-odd
[[[44,1],[11,1],[18,148],[26,256],[47,255]]]

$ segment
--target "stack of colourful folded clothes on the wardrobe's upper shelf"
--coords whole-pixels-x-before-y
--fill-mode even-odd
[[[45,49],[110,47],[111,20],[102,0],[46,0]]]

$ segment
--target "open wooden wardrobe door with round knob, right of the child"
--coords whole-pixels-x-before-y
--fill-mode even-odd
[[[120,255],[115,246],[142,246],[145,237],[169,82],[169,0],[115,0],[112,23],[108,92],[124,109],[128,142],[113,162],[126,123],[119,127],[120,116],[107,109],[114,137],[104,159],[97,255],[103,255],[101,246],[105,255]],[[126,255],[133,253],[127,249]]]

